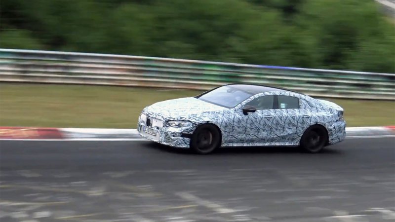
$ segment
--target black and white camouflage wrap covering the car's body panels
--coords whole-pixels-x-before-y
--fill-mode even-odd
[[[244,115],[243,106],[266,95],[285,95],[299,98],[300,109],[257,110]],[[314,125],[324,126],[329,144],[344,140],[346,122],[339,119],[338,105],[325,100],[288,91],[259,93],[235,108],[224,108],[194,97],[167,100],[144,108],[138,119],[139,135],[160,144],[189,148],[190,139],[181,133],[192,134],[203,123],[218,126],[222,134],[222,147],[242,146],[298,146],[305,130]],[[156,136],[143,131],[147,117],[152,121]],[[188,126],[170,127],[168,121],[188,121]]]

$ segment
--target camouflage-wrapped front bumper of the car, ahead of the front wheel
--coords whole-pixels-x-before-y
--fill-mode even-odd
[[[155,135],[144,131],[144,128],[147,128],[147,118],[152,121],[149,128],[155,132]],[[140,136],[159,144],[175,148],[189,148],[193,127],[170,127],[163,119],[152,118],[144,114],[139,116],[137,131]]]

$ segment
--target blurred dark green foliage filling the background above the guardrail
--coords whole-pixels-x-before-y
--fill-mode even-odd
[[[1,0],[0,47],[395,73],[372,0]]]

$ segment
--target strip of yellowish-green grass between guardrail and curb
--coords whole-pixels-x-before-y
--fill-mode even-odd
[[[200,91],[112,86],[0,84],[0,126],[136,128],[141,110]],[[395,102],[333,101],[348,126],[395,125]]]

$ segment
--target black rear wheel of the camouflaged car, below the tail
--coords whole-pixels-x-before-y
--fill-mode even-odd
[[[309,153],[320,152],[328,141],[328,133],[325,127],[313,125],[307,128],[300,139],[300,147]]]

